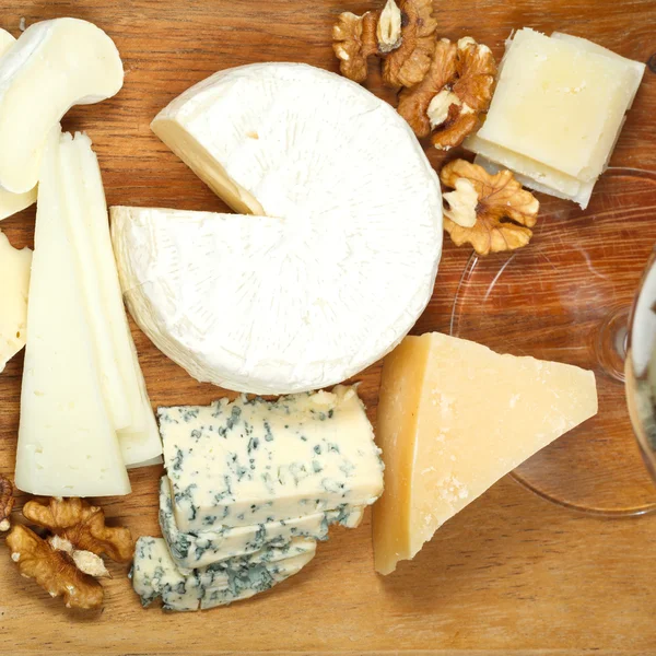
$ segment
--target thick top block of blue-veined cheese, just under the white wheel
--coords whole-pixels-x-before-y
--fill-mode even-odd
[[[383,492],[380,452],[353,387],[159,415],[183,532],[365,506]]]

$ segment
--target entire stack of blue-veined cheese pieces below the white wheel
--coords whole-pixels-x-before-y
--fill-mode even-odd
[[[383,464],[353,387],[160,408],[164,539],[141,538],[144,605],[231,604],[296,574],[331,524],[356,527],[383,492]]]

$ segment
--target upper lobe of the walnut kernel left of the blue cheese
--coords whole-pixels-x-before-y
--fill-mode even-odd
[[[134,541],[127,528],[105,526],[105,513],[83,499],[32,500],[23,515],[37,526],[68,540],[77,551],[103,553],[118,563],[132,560]]]

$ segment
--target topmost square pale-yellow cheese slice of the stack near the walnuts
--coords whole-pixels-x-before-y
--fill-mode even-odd
[[[581,180],[602,172],[633,95],[619,59],[524,28],[478,134]]]

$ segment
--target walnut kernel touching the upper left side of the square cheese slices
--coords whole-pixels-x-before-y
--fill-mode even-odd
[[[460,145],[479,126],[494,91],[496,62],[471,37],[437,42],[426,75],[399,95],[398,113],[422,138],[432,133],[440,150]]]

